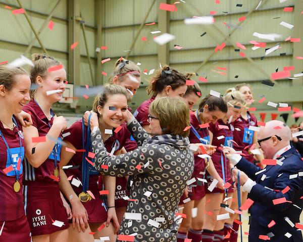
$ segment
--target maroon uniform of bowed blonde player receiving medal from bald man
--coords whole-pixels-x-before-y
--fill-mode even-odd
[[[222,150],[220,149],[221,148],[220,146],[221,144],[228,147],[233,146],[231,140],[233,140],[234,126],[233,124],[226,124],[222,121],[222,119],[219,119],[215,124],[210,123],[209,130],[213,133],[212,145],[217,146],[216,152],[212,155],[212,161],[214,163],[214,166],[220,177],[223,180],[225,178],[225,182],[229,181],[229,183],[231,183],[229,180],[231,177],[229,160],[225,158],[224,154],[222,153]],[[222,162],[223,162],[223,169],[221,165]],[[206,179],[208,181],[207,187],[209,187],[213,181],[213,178],[207,171],[206,171]],[[231,192],[232,188],[230,187],[228,191]],[[224,190],[219,189],[218,187],[215,187],[213,191],[206,189],[206,193],[223,193],[223,192]]]

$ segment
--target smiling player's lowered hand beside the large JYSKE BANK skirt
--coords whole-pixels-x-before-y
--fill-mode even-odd
[[[75,228],[75,224],[77,225],[77,229],[79,232],[84,232],[88,227],[88,214],[86,209],[81,204],[79,200],[72,203],[72,212],[73,212],[73,228]]]

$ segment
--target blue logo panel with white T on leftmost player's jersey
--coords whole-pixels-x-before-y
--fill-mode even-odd
[[[12,157],[10,157],[10,153],[7,151],[7,164],[6,167],[13,166],[13,170],[7,173],[7,176],[16,176],[15,171],[19,171],[19,174],[22,174],[23,172],[23,165],[22,161],[24,158],[24,147],[21,147],[21,152],[20,152],[20,147],[16,148],[10,148],[10,152]],[[19,154],[20,153],[20,154]],[[20,157],[19,157],[20,155]],[[18,160],[20,158],[20,162],[18,165]],[[19,169],[20,166],[20,169]]]

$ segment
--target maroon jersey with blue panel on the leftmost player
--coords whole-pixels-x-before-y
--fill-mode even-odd
[[[7,146],[4,142],[3,137],[0,137],[0,221],[11,221],[16,220],[24,216],[23,207],[23,194],[22,194],[22,178],[23,178],[23,165],[22,161],[24,158],[24,137],[22,132],[22,126],[17,121],[17,127],[13,130],[3,127],[0,122],[0,130],[5,137],[10,148],[10,154],[7,150]],[[20,140],[21,139],[21,148]],[[20,169],[18,166],[18,158]],[[11,171],[4,170],[6,168],[13,167]],[[19,174],[19,182],[21,189],[16,192],[13,189],[14,183],[16,182],[16,174]],[[1,240],[1,236],[0,236]]]

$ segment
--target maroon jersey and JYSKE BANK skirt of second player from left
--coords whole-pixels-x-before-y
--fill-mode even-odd
[[[23,111],[31,115],[39,136],[45,136],[53,124],[53,118],[49,121],[34,100],[31,100]],[[52,110],[51,113],[54,114]],[[38,168],[31,166],[28,160],[24,161],[24,209],[33,236],[51,234],[69,227],[67,213],[60,197],[59,183],[53,179],[58,175],[57,179],[60,180],[57,173],[60,151],[61,144],[57,142],[46,161]],[[62,223],[53,225],[56,220]]]

